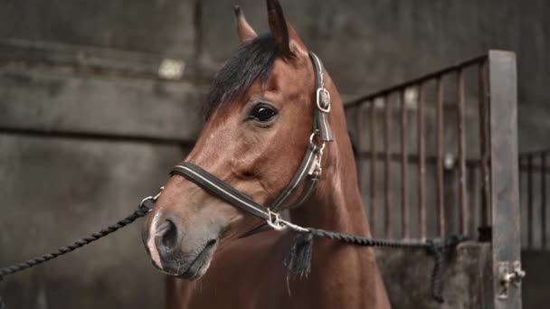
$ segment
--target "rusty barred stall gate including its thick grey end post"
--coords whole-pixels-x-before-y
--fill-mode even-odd
[[[346,115],[375,237],[490,242],[482,303],[521,308],[515,54],[489,51],[357,98]]]

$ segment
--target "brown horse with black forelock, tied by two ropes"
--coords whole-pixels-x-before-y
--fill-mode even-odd
[[[279,2],[267,2],[270,34],[263,36],[236,9],[242,46],[216,74],[204,129],[185,159],[261,205],[273,202],[299,169],[318,108],[308,48]],[[324,150],[315,192],[290,210],[290,218],[300,226],[370,237],[342,101],[327,73],[325,82],[333,141]],[[169,279],[168,307],[390,307],[372,248],[317,239],[310,274],[289,278],[282,261],[295,232],[271,229],[240,238],[260,222],[172,176],[143,232],[153,264],[180,277]]]

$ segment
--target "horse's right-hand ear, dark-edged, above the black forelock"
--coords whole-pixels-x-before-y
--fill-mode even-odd
[[[294,27],[287,22],[279,1],[267,0],[267,2],[271,35],[275,38],[280,52],[286,56],[297,55],[299,53],[305,53],[308,56],[306,44],[299,38]]]

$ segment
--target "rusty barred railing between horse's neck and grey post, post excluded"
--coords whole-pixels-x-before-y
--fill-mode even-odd
[[[410,80],[394,86],[389,89],[377,91],[362,98],[357,98],[346,104],[346,112],[353,112],[355,115],[355,133],[357,146],[360,149],[360,161],[368,161],[368,204],[371,226],[377,230],[377,220],[379,217],[377,195],[383,195],[382,210],[384,211],[384,236],[391,237],[394,231],[395,220],[392,216],[399,213],[401,218],[401,236],[411,238],[416,236],[420,239],[426,239],[429,234],[428,220],[436,219],[435,234],[444,237],[450,232],[448,227],[448,218],[450,204],[458,204],[459,212],[455,216],[458,220],[458,230],[461,234],[471,234],[472,225],[471,212],[479,211],[480,225],[488,225],[489,213],[489,177],[488,177],[488,56],[480,56],[469,61],[460,62],[457,65],[450,66],[443,70],[438,70],[424,75],[418,79]],[[478,86],[477,102],[468,100],[469,108],[478,110],[476,120],[479,122],[479,144],[476,151],[467,151],[467,119],[466,119],[466,89],[465,89],[465,71],[477,70]],[[451,96],[445,89],[452,89]],[[447,91],[450,92],[450,91]],[[452,98],[454,97],[454,98]],[[450,102],[448,102],[448,98]],[[476,107],[477,105],[477,107]],[[430,108],[432,113],[429,113]],[[368,113],[368,118],[364,119],[364,110]],[[395,118],[397,114],[398,119]],[[430,114],[430,115],[427,115]],[[382,132],[377,132],[377,117],[383,117]],[[427,119],[431,117],[431,119]],[[452,117],[452,118],[450,118]],[[393,121],[394,120],[394,121]],[[455,122],[454,128],[446,125],[451,120]],[[472,119],[469,119],[471,122]],[[368,127],[365,127],[365,122]],[[415,122],[415,124],[413,124]],[[426,125],[428,122],[435,125],[435,135],[427,136]],[[397,126],[397,127],[395,127]],[[450,145],[444,141],[445,131],[453,130],[456,137]],[[367,132],[365,132],[367,131]],[[399,132],[399,150],[393,152],[391,148],[391,132]],[[368,145],[364,145],[364,136],[368,136]],[[383,137],[382,151],[378,150],[380,146],[377,137]],[[427,139],[434,139],[431,143],[431,149],[427,149]],[[471,138],[470,138],[471,139]],[[415,149],[412,149],[411,141],[415,140]],[[453,149],[454,148],[454,149]],[[474,156],[468,156],[475,154]],[[400,173],[391,173],[391,165],[397,161],[400,165]],[[379,174],[377,162],[382,162],[382,174]],[[359,178],[363,181],[364,164],[359,163]],[[412,165],[416,165],[415,171],[412,171]],[[435,193],[434,211],[435,216],[428,216],[427,207],[427,175],[428,168],[435,168],[434,176]],[[480,207],[478,210],[472,210],[469,207],[469,192],[467,188],[467,169],[473,171],[480,170],[479,192],[481,192]],[[455,173],[456,172],[456,173]],[[412,182],[412,174],[415,173],[415,181]],[[457,201],[449,201],[445,195],[449,195],[446,188],[449,183],[449,177],[458,176]],[[377,188],[377,181],[382,177],[384,185],[382,192]],[[399,183],[399,189],[392,185],[391,178],[395,178]],[[394,183],[395,184],[395,183]],[[363,187],[363,186],[362,186]],[[412,203],[412,193],[415,193],[416,202]],[[397,197],[398,195],[398,197]],[[393,201],[400,201],[399,209],[396,209]],[[449,204],[449,205],[448,205]],[[412,207],[415,209],[412,210]],[[416,211],[416,235],[412,235],[412,211]]]

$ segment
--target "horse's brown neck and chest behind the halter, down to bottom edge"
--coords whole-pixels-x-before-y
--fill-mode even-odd
[[[347,133],[346,117],[337,90],[330,82],[330,125],[334,141],[323,157],[323,174],[315,195],[307,204],[290,211],[300,226],[370,237],[370,229],[357,186],[356,163]],[[319,307],[390,308],[382,276],[372,248],[334,246],[327,239],[315,240],[312,273],[301,286],[315,294]],[[345,289],[327,291],[339,281]],[[327,291],[321,293],[318,291]]]

